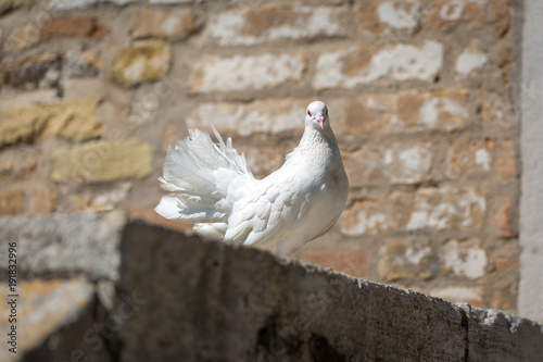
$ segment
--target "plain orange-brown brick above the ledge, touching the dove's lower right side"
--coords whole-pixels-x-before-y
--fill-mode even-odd
[[[364,250],[306,250],[302,259],[356,277],[369,273],[369,252]]]

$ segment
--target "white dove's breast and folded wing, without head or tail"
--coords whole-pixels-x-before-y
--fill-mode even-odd
[[[225,240],[289,254],[338,221],[349,182],[337,145],[300,145],[268,177],[248,184],[235,203]]]

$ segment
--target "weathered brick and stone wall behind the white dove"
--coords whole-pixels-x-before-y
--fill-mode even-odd
[[[521,1],[0,0],[0,214],[157,220],[214,123],[258,176],[326,101],[351,180],[294,257],[515,312]],[[182,227],[182,226],[180,226]]]

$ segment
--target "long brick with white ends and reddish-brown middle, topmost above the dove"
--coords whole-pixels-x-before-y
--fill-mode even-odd
[[[241,7],[210,21],[210,36],[219,45],[252,46],[282,39],[343,37],[348,33],[344,7],[303,7],[289,3]]]

